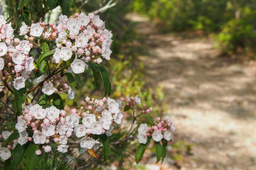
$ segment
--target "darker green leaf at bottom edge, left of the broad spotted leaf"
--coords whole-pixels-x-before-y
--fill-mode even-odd
[[[12,151],[12,160],[10,162],[12,169],[17,169],[22,162],[22,159],[26,153],[30,143],[23,144],[22,146],[18,143]]]

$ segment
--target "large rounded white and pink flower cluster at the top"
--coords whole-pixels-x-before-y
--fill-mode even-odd
[[[111,31],[105,29],[104,22],[98,15],[94,16],[93,13],[89,13],[87,16],[84,13],[80,15],[76,13],[75,18],[60,15],[57,23],[58,38],[56,40],[58,43],[53,55],[56,63],[61,60],[67,61],[72,54],[76,54],[77,58],[71,63],[71,69],[78,74],[88,68],[85,62],[95,56],[110,59],[112,51],[109,47],[112,43],[112,34]],[[93,61],[101,63],[102,59],[97,58]]]

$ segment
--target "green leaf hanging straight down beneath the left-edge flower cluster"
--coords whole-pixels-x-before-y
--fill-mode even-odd
[[[13,86],[13,93],[14,93],[14,103],[16,105],[16,116],[21,115],[21,110],[22,110],[22,104],[26,100],[26,95],[25,93],[27,92],[27,88],[24,87],[22,89],[16,90]]]

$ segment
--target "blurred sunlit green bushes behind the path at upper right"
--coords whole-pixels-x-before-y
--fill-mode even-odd
[[[256,0],[134,0],[131,8],[162,32],[214,33],[224,54],[255,50]]]

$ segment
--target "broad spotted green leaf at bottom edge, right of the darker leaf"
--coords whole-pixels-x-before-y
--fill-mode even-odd
[[[39,145],[31,143],[23,157],[22,167],[23,170],[37,169],[42,155],[38,156],[35,154],[36,150],[39,149]]]

